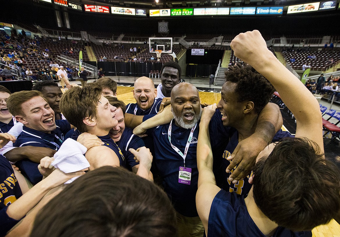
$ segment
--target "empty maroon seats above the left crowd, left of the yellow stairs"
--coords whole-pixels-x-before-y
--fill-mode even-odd
[[[64,54],[75,59],[79,58],[79,51],[82,50],[83,60],[88,61],[89,58],[87,56],[86,49],[83,46],[83,44],[80,41],[73,41],[76,43],[72,43],[72,41],[68,40],[66,42],[64,39],[63,40],[57,39],[56,42],[55,41],[53,42],[46,40],[45,42],[40,43],[40,48],[41,50],[48,49],[52,56]],[[71,49],[73,53],[69,52]]]

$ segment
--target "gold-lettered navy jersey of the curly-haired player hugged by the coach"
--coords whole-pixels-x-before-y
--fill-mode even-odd
[[[272,142],[278,142],[283,138],[293,138],[294,136],[290,134],[287,131],[282,131],[280,129],[275,135],[272,140]],[[252,184],[248,182],[249,177],[253,175],[253,172],[251,172],[248,176],[246,176],[243,180],[238,181],[236,184],[233,184],[232,182],[228,181],[229,176],[232,174],[232,172],[226,173],[225,170],[227,169],[228,165],[230,164],[230,161],[228,161],[226,158],[231,156],[231,154],[234,152],[236,146],[238,145],[238,132],[235,131],[234,134],[232,134],[230,141],[228,145],[226,146],[223,156],[222,156],[222,166],[219,170],[215,173],[215,178],[219,177],[222,178],[220,181],[216,181],[216,183],[222,183],[222,188],[227,192],[236,192],[240,195],[248,195]],[[215,160],[214,160],[215,161]],[[221,175],[222,174],[222,175]]]

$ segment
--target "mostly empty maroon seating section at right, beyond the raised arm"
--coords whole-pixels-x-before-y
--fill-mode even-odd
[[[312,56],[315,54],[316,58],[308,58],[308,56]],[[302,65],[304,63],[310,63],[311,70],[315,71],[325,71],[329,67],[333,65],[336,61],[340,60],[340,52],[339,51],[314,51],[314,52],[285,52],[283,51],[283,55],[286,60],[289,62],[290,66],[292,66],[295,70],[301,70]],[[290,62],[290,59],[294,57],[295,62]],[[333,62],[331,62],[333,59]]]

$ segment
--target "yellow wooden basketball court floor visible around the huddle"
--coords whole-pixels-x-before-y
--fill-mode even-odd
[[[133,97],[133,87],[119,86],[117,88],[117,98],[125,104],[136,103]],[[207,104],[218,103],[221,99],[221,93],[201,92],[199,91],[201,102]],[[312,230],[313,237],[340,237],[340,225],[331,220],[327,225],[319,225]]]

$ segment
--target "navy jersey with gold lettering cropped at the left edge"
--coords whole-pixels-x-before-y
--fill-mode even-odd
[[[20,220],[6,214],[8,205],[22,196],[21,188],[10,162],[0,155],[0,236],[6,235]]]

